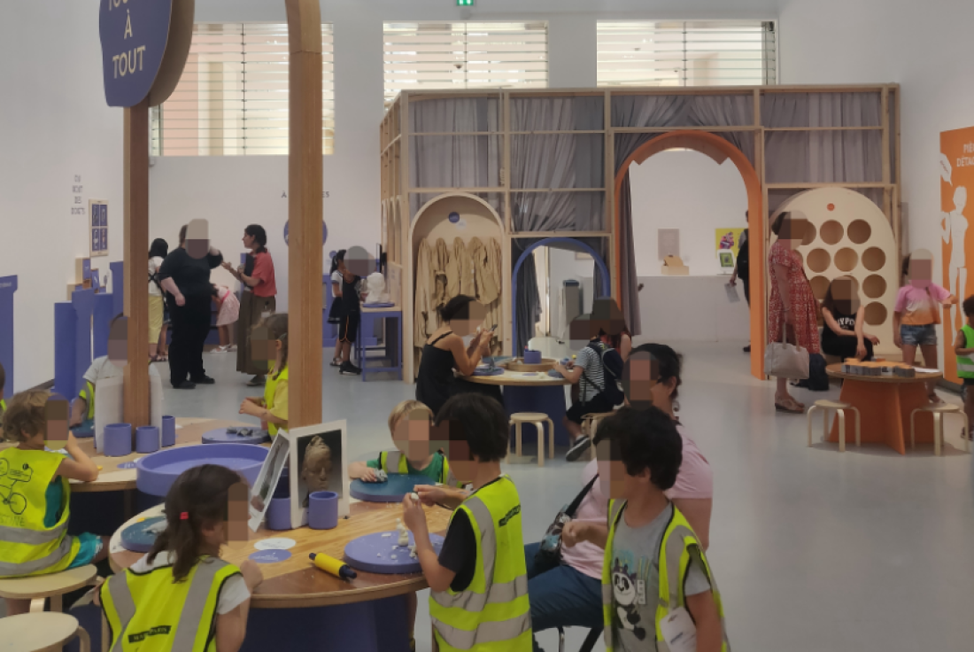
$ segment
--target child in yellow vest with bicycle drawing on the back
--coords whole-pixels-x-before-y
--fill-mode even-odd
[[[56,573],[104,559],[107,538],[67,534],[68,480],[98,478],[98,467],[68,431],[67,401],[42,390],[20,392],[4,415],[3,433],[18,445],[0,451],[0,577]],[[7,600],[8,615],[29,609],[30,600]]]

